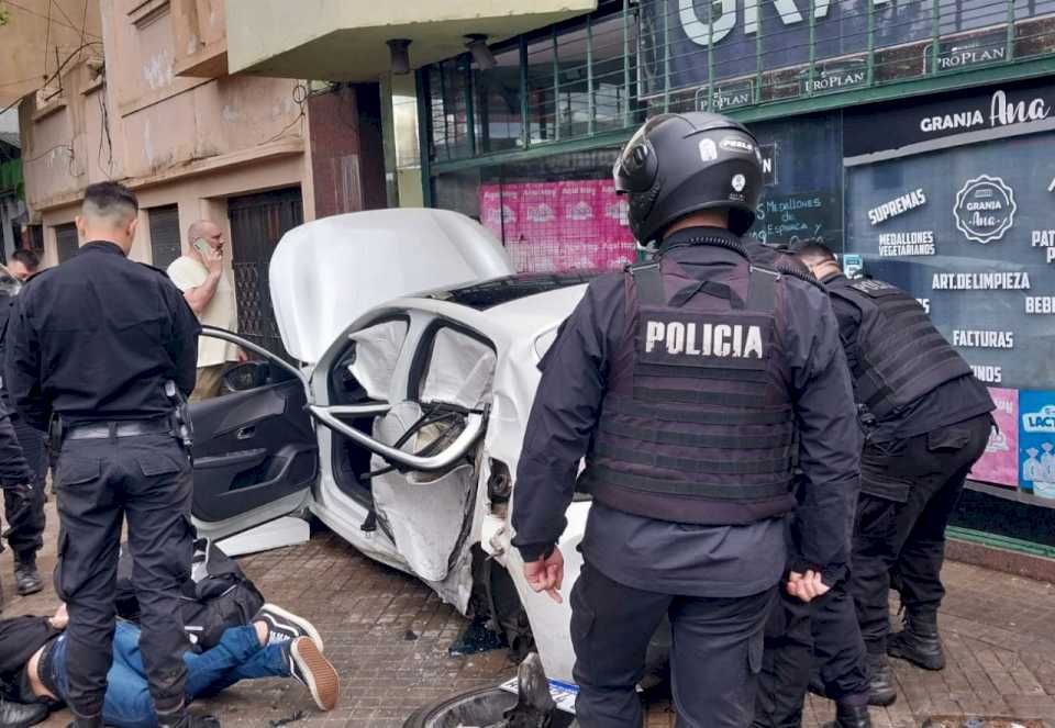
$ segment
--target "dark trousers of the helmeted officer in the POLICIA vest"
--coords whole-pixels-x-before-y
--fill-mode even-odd
[[[763,631],[776,587],[742,598],[645,592],[589,563],[571,590],[576,714],[582,728],[640,728],[635,687],[664,615],[679,728],[744,728],[755,707]]]

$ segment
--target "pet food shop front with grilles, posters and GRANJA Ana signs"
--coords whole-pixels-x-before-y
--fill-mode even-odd
[[[523,270],[635,257],[610,177],[645,119],[747,122],[751,235],[911,291],[997,402],[954,533],[1055,555],[1055,2],[614,0],[418,71],[424,197]]]

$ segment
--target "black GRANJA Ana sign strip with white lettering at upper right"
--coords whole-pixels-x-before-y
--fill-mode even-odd
[[[1055,85],[998,88],[881,113],[847,111],[845,120],[846,156],[856,157],[957,134],[1055,120]]]

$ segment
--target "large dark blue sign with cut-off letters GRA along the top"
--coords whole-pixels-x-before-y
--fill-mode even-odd
[[[871,7],[875,49],[933,37],[934,3],[873,0]],[[809,63],[810,8],[810,0],[641,0],[643,94],[708,83],[711,61],[715,79],[754,74],[759,38],[766,70]],[[1017,3],[1017,8],[1021,21],[1055,13],[1055,0]],[[868,9],[868,0],[812,0],[813,59],[867,52]],[[1002,0],[941,3],[943,36],[999,26],[1007,19]],[[942,41],[936,52],[940,70],[1006,59],[1003,46],[996,43],[960,45]]]

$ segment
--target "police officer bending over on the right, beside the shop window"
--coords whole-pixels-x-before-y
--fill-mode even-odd
[[[886,656],[926,670],[945,657],[937,609],[945,527],[995,407],[970,367],[908,293],[879,280],[849,280],[823,245],[796,254],[829,290],[862,407],[866,440],[849,591],[873,671],[873,697],[892,702]],[[904,629],[890,636],[888,592],[900,578]]]

